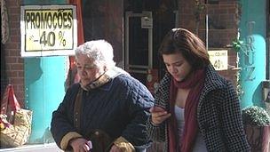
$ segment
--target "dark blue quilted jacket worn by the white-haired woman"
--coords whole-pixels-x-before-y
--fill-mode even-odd
[[[83,91],[80,128],[76,130],[74,103],[79,88],[79,84],[72,85],[52,114],[51,131],[58,146],[67,132],[87,138],[94,129],[107,132],[113,139],[122,136],[137,149],[147,146],[146,121],[154,99],[143,84],[120,75],[90,92]]]

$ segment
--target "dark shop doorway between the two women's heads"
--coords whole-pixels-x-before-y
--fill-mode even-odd
[[[124,12],[124,69],[155,92],[165,72],[158,48],[163,36],[176,27],[178,11],[170,3],[134,5]]]

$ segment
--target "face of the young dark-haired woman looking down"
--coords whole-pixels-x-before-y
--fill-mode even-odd
[[[171,76],[179,82],[184,80],[192,71],[191,65],[180,52],[163,54],[163,61]]]

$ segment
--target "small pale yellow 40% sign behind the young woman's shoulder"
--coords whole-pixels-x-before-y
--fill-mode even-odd
[[[227,50],[208,51],[210,62],[216,70],[227,69]]]

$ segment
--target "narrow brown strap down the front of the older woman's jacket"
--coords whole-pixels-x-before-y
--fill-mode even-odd
[[[82,96],[83,96],[83,89],[79,88],[79,92],[77,92],[77,95],[75,97],[75,105],[74,105],[74,124],[76,129],[80,128]]]

